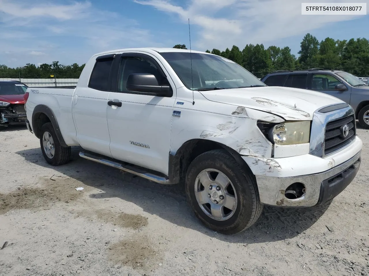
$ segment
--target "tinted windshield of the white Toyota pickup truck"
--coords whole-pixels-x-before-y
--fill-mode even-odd
[[[189,52],[160,53],[188,89],[213,90],[266,86],[249,71],[231,60],[212,54]]]

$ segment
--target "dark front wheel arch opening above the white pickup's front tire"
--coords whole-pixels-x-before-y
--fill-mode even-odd
[[[172,184],[178,184],[184,179],[190,163],[200,154],[213,149],[224,149],[227,151],[242,167],[255,177],[248,164],[241,155],[234,149],[207,139],[191,139],[184,142],[175,152],[169,152],[169,180]]]

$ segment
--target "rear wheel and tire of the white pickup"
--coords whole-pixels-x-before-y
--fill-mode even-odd
[[[44,141],[46,142],[45,144]],[[48,144],[47,141],[50,143]],[[51,123],[45,123],[41,127],[40,146],[46,162],[52,166],[59,166],[69,162],[70,146],[65,148],[60,145]]]

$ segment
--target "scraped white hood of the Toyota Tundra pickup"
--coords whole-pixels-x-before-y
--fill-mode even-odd
[[[285,120],[312,120],[318,108],[343,103],[321,92],[280,86],[201,91],[201,94],[213,102],[261,110]]]

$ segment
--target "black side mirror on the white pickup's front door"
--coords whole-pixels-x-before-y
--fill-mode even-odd
[[[162,97],[171,97],[172,89],[169,85],[159,85],[158,80],[153,74],[131,74],[127,79],[127,90],[138,93],[148,93]]]

